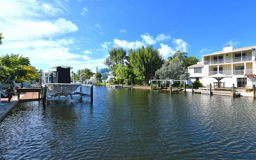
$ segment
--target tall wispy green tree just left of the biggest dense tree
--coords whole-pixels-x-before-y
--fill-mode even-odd
[[[114,48],[108,51],[109,57],[104,60],[103,64],[108,66],[110,70],[113,70],[113,67],[116,64],[124,64],[126,60],[126,50],[124,48],[118,48],[115,46]]]

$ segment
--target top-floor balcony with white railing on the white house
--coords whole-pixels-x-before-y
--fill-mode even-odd
[[[244,62],[244,61],[251,61],[252,56],[242,56],[242,57],[234,57],[234,58],[224,58],[218,60],[205,60],[205,64],[225,64],[225,63],[232,63],[232,62]]]

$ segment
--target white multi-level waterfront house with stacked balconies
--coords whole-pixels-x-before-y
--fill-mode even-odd
[[[220,52],[202,56],[202,62],[188,67],[189,81],[199,80],[203,86],[218,82],[211,76],[224,74],[222,87],[252,88],[256,84],[256,46],[234,49],[224,47]],[[213,85],[212,85],[213,86]]]

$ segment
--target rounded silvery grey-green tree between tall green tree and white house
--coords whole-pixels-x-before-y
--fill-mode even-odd
[[[155,76],[166,80],[188,80],[189,73],[180,63],[166,62],[156,71]]]

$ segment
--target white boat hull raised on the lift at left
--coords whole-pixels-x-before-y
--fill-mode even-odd
[[[81,84],[49,83],[48,90],[51,90],[58,95],[69,96],[80,86]]]

